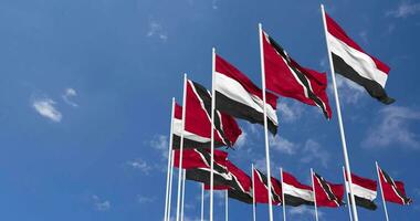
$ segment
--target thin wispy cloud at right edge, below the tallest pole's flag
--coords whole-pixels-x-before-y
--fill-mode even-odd
[[[410,123],[418,120],[420,120],[420,110],[402,106],[384,107],[379,110],[376,126],[368,129],[363,146],[374,149],[402,145],[411,149],[419,149],[419,136],[410,129]]]

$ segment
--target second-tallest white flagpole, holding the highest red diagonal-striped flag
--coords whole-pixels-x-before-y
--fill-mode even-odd
[[[263,49],[263,35],[262,24],[259,23],[260,31],[260,57],[261,57],[261,78],[262,78],[262,92],[263,92],[263,105],[264,105],[264,139],[265,139],[265,164],[267,175],[267,192],[269,192],[269,217],[270,221],[273,221],[273,203],[271,201],[271,167],[270,167],[270,147],[269,147],[269,128],[266,120],[266,95],[265,95],[265,66],[264,66],[264,49]]]

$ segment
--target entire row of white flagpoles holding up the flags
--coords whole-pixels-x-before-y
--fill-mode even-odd
[[[345,167],[344,170],[346,171],[344,176],[351,175],[350,170],[350,162],[347,151],[347,144],[346,144],[346,136],[344,130],[344,123],[342,117],[342,110],[340,110],[340,103],[339,103],[339,96],[338,96],[338,90],[336,84],[336,77],[335,77],[335,71],[334,71],[334,64],[332,59],[332,53],[327,40],[327,27],[326,27],[326,18],[325,18],[325,10],[324,6],[321,4],[322,10],[322,17],[323,17],[323,24],[324,24],[324,31],[325,31],[325,40],[326,40],[326,46],[327,46],[327,53],[328,53],[328,61],[329,61],[329,67],[330,67],[330,75],[333,80],[333,88],[334,88],[334,96],[335,96],[335,103],[336,103],[336,110],[337,110],[337,119],[338,119],[338,126],[339,126],[339,134],[340,134],[340,140],[343,146],[343,155],[344,155],[344,161]],[[263,92],[263,116],[264,116],[264,144],[265,144],[265,162],[266,162],[266,172],[267,172],[267,196],[269,196],[269,220],[273,221],[273,206],[272,206],[272,183],[271,183],[271,159],[270,159],[270,145],[269,145],[269,133],[267,133],[267,114],[266,114],[266,94],[265,94],[265,67],[264,67],[264,52],[263,52],[263,31],[262,31],[262,24],[259,24],[259,35],[260,35],[260,59],[261,59],[261,77],[262,77],[262,92]],[[213,181],[213,161],[214,161],[214,110],[216,110],[216,93],[214,93],[214,74],[216,74],[216,50],[212,49],[212,99],[211,99],[211,165],[210,165],[210,203],[209,203],[209,217],[210,221],[213,221],[213,190],[214,190],[214,181]],[[186,90],[187,90],[187,74],[183,75],[183,96],[182,96],[182,123],[181,123],[181,133],[180,133],[180,155],[179,155],[179,168],[182,168],[182,150],[183,150],[183,129],[185,129],[185,117],[186,117]],[[167,173],[167,186],[166,186],[166,199],[165,199],[165,219],[170,219],[170,207],[171,207],[171,189],[172,189],[172,168],[174,168],[174,154],[171,150],[172,147],[172,119],[174,119],[174,112],[175,112],[175,98],[172,98],[172,113],[171,113],[171,127],[170,127],[170,141],[169,141],[169,151],[168,151],[168,173]],[[252,166],[253,168],[253,166]],[[377,166],[378,169],[378,166]],[[378,171],[379,172],[379,171]],[[312,171],[313,175],[313,171]],[[254,176],[252,175],[252,179],[254,179]],[[379,173],[378,173],[379,177]],[[283,179],[283,178],[282,178]],[[183,181],[182,181],[183,180]],[[351,176],[347,176],[347,180],[349,183],[351,182]],[[183,183],[182,183],[183,182]],[[381,185],[380,185],[381,186]],[[185,188],[185,173],[182,177],[182,169],[178,170],[178,192],[177,192],[177,212],[176,212],[176,221],[180,221],[183,218],[183,191]],[[380,187],[381,188],[381,187]],[[203,186],[202,186],[202,198],[203,198]],[[358,221],[358,214],[356,209],[356,201],[354,191],[351,188],[351,185],[347,187],[346,185],[346,191],[349,193],[349,198],[347,194],[347,201],[348,204],[350,204],[351,210],[349,208],[349,215],[350,219],[354,221]],[[254,192],[253,192],[254,193]],[[381,189],[382,193],[382,189]],[[384,193],[382,193],[384,194]],[[228,192],[225,192],[225,197],[228,197]],[[284,198],[284,196],[283,196]],[[284,199],[283,199],[284,201]],[[316,201],[316,200],[315,200]],[[384,201],[384,209],[386,212],[386,219],[388,219],[388,212],[386,209],[386,202]],[[227,200],[228,202],[228,200]],[[225,206],[225,219],[228,220],[228,204]],[[316,209],[316,202],[315,202],[315,214],[317,220],[317,209]],[[203,219],[203,199],[201,202],[201,220]],[[283,219],[285,220],[285,209],[283,208]],[[253,220],[255,221],[255,199],[253,199]]]

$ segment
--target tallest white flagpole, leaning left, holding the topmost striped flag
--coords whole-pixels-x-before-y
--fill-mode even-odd
[[[333,57],[332,57],[332,54],[330,54],[329,43],[328,43],[328,38],[327,38],[328,33],[327,33],[327,23],[326,23],[326,19],[325,19],[324,4],[321,4],[321,10],[322,10],[322,13],[323,13],[323,22],[324,22],[324,31],[325,31],[325,42],[327,44],[329,67],[330,67],[330,74],[332,74],[332,78],[333,78],[333,88],[334,88],[334,96],[335,96],[335,103],[336,103],[336,108],[337,108],[338,126],[339,126],[339,131],[340,131],[340,137],[342,137],[344,161],[345,161],[347,173],[351,175],[350,161],[348,159],[348,154],[347,154],[346,135],[344,133],[344,125],[343,125],[343,119],[342,119],[342,108],[340,108],[340,104],[339,104],[338,90],[337,90],[337,84],[336,84],[336,80],[335,80],[335,71],[334,71]],[[351,176],[348,177],[348,181],[350,183],[353,183],[351,182]],[[358,221],[359,219],[358,219],[358,215],[357,215],[356,201],[355,201],[355,196],[353,193],[351,186],[349,187],[349,190],[350,190],[350,200],[351,200],[353,217],[354,217],[355,221]]]

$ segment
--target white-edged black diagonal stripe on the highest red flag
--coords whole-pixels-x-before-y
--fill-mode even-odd
[[[326,104],[324,104],[324,102],[318,96],[316,96],[315,93],[312,91],[312,87],[309,86],[311,83],[307,80],[307,77],[305,76],[305,74],[303,74],[298,69],[296,69],[295,65],[292,64],[292,60],[288,56],[287,52],[277,42],[275,42],[273,38],[271,38],[269,35],[269,40],[270,40],[270,44],[274,48],[274,50],[277,52],[277,54],[280,56],[282,56],[287,62],[287,66],[294,73],[296,73],[296,76],[300,78],[300,81],[302,82],[302,84],[304,85],[304,87],[306,87],[307,95],[309,96],[309,98],[312,101],[314,101],[314,103],[316,104],[316,106],[318,106],[323,110],[324,116],[326,118],[328,118],[328,112],[326,109]]]

